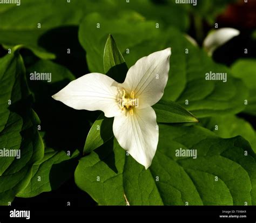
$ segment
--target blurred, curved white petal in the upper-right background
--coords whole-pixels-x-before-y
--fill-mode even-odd
[[[221,28],[210,32],[205,38],[203,46],[209,55],[212,55],[214,50],[219,46],[224,45],[228,40],[240,34],[239,30],[233,28]]]

